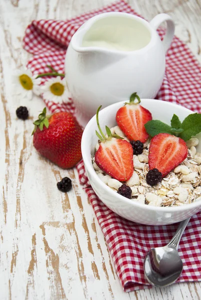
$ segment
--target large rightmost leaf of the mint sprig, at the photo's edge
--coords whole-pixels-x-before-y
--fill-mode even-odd
[[[199,133],[201,131],[201,113],[191,113],[186,116],[181,123],[181,128],[183,132],[179,134],[179,137],[185,141]]]

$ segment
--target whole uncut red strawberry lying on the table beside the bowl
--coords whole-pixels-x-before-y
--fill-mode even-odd
[[[33,145],[41,155],[62,168],[73,167],[81,159],[83,130],[70,113],[47,117],[44,108],[33,124]]]

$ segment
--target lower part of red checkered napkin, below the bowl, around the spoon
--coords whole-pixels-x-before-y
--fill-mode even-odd
[[[143,261],[148,250],[164,246],[177,229],[177,224],[145,226],[128,221],[109,208],[96,196],[84,170],[77,165],[79,181],[89,197],[98,223],[105,236],[116,273],[124,291],[151,287],[143,273]],[[201,281],[201,212],[188,223],[179,243],[183,271],[177,282]]]

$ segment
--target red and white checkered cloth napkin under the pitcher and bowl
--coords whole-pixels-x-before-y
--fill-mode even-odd
[[[122,11],[136,14],[124,1],[119,1],[70,20],[38,20],[26,28],[24,48],[34,56],[27,67],[33,74],[49,71],[50,64],[63,72],[66,47],[72,34],[88,18],[106,11]],[[162,30],[159,32],[162,35]],[[44,79],[45,80],[45,79]],[[166,74],[158,99],[176,102],[196,112],[201,112],[201,66],[188,47],[174,37],[166,55]],[[47,107],[74,112],[73,102],[55,104],[44,99]],[[77,165],[80,183],[90,199],[91,205],[105,236],[116,273],[125,291],[150,287],[143,274],[143,259],[152,247],[163,246],[172,237],[177,224],[168,226],[142,226],[121,218],[108,209],[95,195],[87,180],[83,162]],[[179,244],[183,261],[181,281],[201,280],[201,214],[193,216]]]

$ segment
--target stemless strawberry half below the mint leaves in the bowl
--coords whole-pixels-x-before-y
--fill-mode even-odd
[[[149,169],[157,168],[162,177],[173,170],[187,157],[187,146],[183,139],[168,133],[155,135],[149,146]]]

